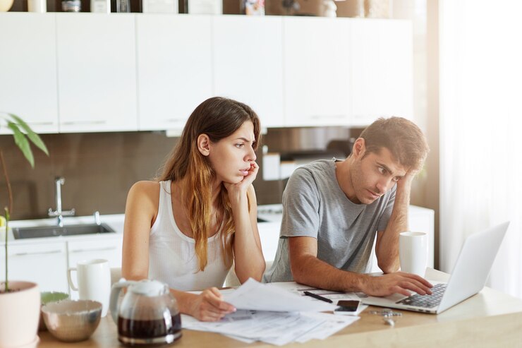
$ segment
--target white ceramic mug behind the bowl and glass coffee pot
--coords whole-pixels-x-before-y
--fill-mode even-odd
[[[71,272],[76,271],[78,287],[75,287]],[[67,270],[69,286],[78,292],[80,300],[93,300],[102,304],[102,317],[107,316],[111,296],[111,268],[103,259],[84,260]]]

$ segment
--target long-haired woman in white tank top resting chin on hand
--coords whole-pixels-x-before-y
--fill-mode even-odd
[[[181,313],[199,320],[235,311],[216,288],[231,265],[240,282],[265,271],[252,186],[259,138],[259,118],[245,104],[213,97],[194,110],[159,182],[130,188],[123,277],[169,284]]]

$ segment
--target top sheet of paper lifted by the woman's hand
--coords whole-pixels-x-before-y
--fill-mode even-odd
[[[257,311],[321,312],[337,307],[324,301],[310,301],[274,284],[277,283],[262,284],[250,278],[235,292],[224,294],[223,299],[238,309]]]

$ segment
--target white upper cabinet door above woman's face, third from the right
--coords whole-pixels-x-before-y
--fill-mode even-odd
[[[284,126],[281,17],[214,17],[214,94],[244,102],[261,126]]]

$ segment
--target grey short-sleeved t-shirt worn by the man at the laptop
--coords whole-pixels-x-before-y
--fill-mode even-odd
[[[356,204],[341,190],[336,160],[319,160],[293,172],[283,193],[283,220],[272,268],[263,282],[293,280],[290,236],[317,239],[317,258],[341,270],[370,272],[377,231],[384,231],[394,206],[396,186],[371,204]]]

